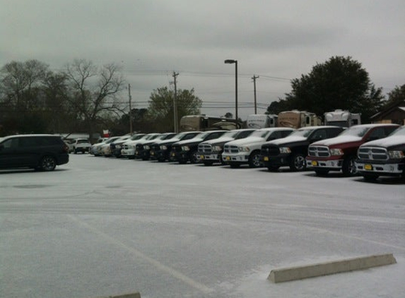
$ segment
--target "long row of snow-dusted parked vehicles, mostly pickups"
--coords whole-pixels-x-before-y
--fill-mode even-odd
[[[230,167],[266,167],[277,171],[310,169],[319,176],[341,171],[345,176],[405,177],[405,126],[360,124],[306,126],[300,129],[271,127],[133,134],[109,138],[90,148],[93,155],[201,162]]]

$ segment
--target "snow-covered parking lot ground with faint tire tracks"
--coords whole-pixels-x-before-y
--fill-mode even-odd
[[[88,154],[0,171],[0,297],[403,297],[404,186]],[[385,253],[397,264],[266,279]]]

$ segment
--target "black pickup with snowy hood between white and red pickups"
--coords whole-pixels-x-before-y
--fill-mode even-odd
[[[293,131],[286,138],[269,141],[262,145],[260,160],[269,171],[288,166],[292,171],[306,168],[308,146],[315,141],[334,138],[344,131],[338,126],[307,126]]]

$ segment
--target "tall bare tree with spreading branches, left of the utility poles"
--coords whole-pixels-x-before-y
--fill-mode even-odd
[[[86,130],[93,135],[95,126],[100,124],[103,114],[119,113],[122,110],[119,93],[124,88],[124,78],[115,64],[97,67],[91,61],[74,60],[66,66],[70,82],[71,108]]]

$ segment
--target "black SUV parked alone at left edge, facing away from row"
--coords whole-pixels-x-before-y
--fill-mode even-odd
[[[53,171],[69,162],[69,147],[60,136],[34,134],[0,138],[0,169]]]

